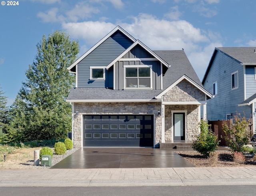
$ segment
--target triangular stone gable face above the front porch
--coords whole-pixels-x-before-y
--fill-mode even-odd
[[[189,83],[187,80],[182,80],[170,91],[163,95],[163,101],[206,101],[205,94],[198,88]]]

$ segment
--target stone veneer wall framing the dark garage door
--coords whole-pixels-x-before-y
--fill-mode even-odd
[[[78,111],[78,116],[75,115]],[[83,114],[154,114],[155,144],[161,139],[161,103],[74,103],[74,147],[82,147],[82,115]]]

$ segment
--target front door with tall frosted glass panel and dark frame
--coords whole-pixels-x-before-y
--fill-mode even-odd
[[[174,140],[185,140],[185,113],[173,113]]]

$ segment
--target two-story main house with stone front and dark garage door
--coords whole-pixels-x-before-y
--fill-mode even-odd
[[[66,99],[75,147],[192,141],[200,106],[206,115],[206,98],[212,96],[183,50],[152,51],[119,26],[68,70],[76,75]]]

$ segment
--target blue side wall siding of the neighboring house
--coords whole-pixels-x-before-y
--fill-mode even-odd
[[[238,89],[231,89],[231,74],[238,71]],[[250,108],[239,107],[244,101],[244,67],[220,51],[217,51],[212,61],[209,73],[204,82],[204,88],[213,94],[213,83],[218,82],[218,94],[207,101],[207,120],[226,120],[226,115],[241,113],[250,114]]]

